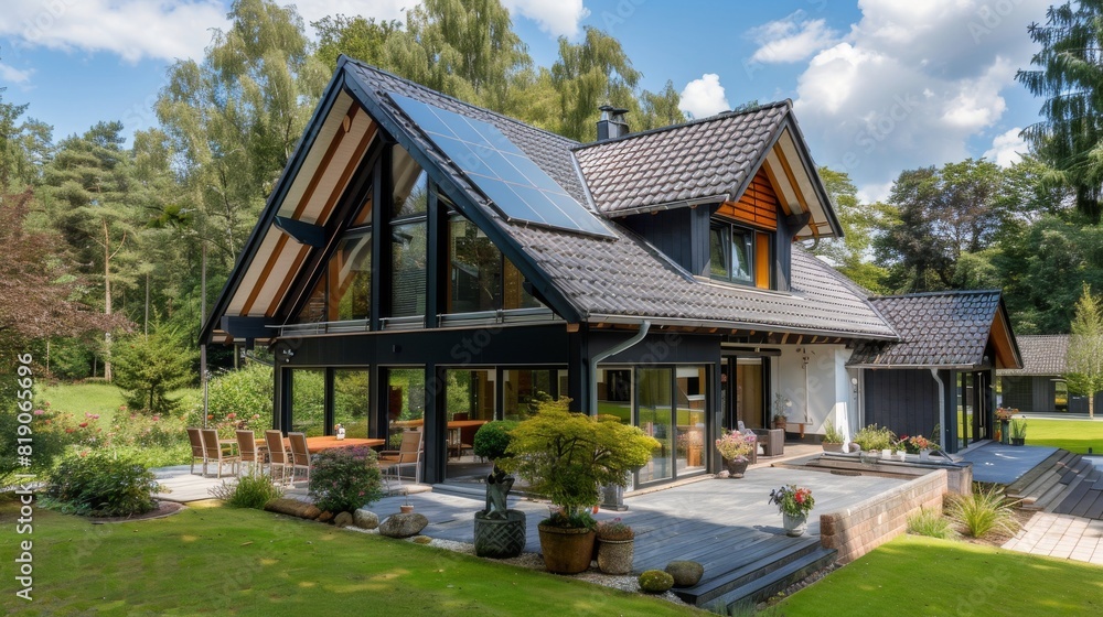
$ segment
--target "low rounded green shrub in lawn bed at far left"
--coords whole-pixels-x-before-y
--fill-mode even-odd
[[[65,513],[129,517],[157,508],[153,473],[129,456],[94,451],[64,458],[46,488],[47,505]]]

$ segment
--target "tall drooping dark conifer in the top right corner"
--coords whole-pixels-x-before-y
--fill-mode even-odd
[[[1022,136],[1052,166],[1049,183],[1075,192],[1077,208],[1100,221],[1103,192],[1103,2],[1079,0],[1050,7],[1046,25],[1030,24],[1030,39],[1042,46],[1030,58],[1037,68],[1016,79],[1043,97],[1045,120]]]

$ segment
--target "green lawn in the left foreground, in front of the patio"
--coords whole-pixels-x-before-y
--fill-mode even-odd
[[[0,505],[13,546],[15,504]],[[693,615],[640,594],[270,512],[193,504],[121,524],[36,509],[33,602],[7,615]],[[13,592],[12,592],[13,593]],[[374,607],[374,608],[373,608]]]

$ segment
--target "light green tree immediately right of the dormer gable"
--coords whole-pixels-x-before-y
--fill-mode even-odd
[[[820,167],[827,195],[835,206],[843,238],[832,238],[820,242],[815,255],[827,260],[836,270],[852,281],[874,293],[886,291],[882,280],[887,272],[869,261],[872,234],[878,224],[880,208],[877,205],[859,205],[858,190],[846,172]]]

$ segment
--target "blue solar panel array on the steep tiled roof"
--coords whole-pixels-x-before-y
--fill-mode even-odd
[[[612,236],[497,127],[401,95],[390,98],[506,219]]]

